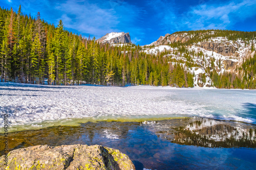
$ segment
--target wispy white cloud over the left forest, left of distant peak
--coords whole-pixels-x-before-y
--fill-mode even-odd
[[[56,8],[64,12],[60,19],[65,27],[81,33],[98,35],[101,32],[112,32],[119,23],[112,9],[102,9],[97,4],[69,0]]]

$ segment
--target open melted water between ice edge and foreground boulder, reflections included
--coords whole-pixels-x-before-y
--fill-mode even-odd
[[[256,126],[206,118],[88,122],[13,132],[8,137],[9,149],[38,144],[104,145],[128,155],[137,170],[256,167]],[[0,150],[3,154],[2,145]]]

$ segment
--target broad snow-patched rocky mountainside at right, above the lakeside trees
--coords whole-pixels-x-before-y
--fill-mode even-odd
[[[251,50],[255,40],[245,41],[239,36],[230,38],[217,34],[216,31],[166,34],[144,45],[142,52],[163,55],[169,63],[181,64],[194,75],[195,86],[210,87],[212,80],[209,72],[241,74],[238,68],[255,53]]]

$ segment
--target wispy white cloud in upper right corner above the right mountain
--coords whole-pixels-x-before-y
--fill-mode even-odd
[[[255,15],[256,1],[232,1],[225,4],[199,5],[191,8],[191,18],[185,24],[188,28],[229,29],[235,23]]]

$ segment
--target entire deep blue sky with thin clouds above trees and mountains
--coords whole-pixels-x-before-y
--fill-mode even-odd
[[[133,43],[150,44],[176,31],[228,29],[256,31],[255,0],[2,0],[0,6],[36,16],[96,39],[110,32],[129,32]]]

